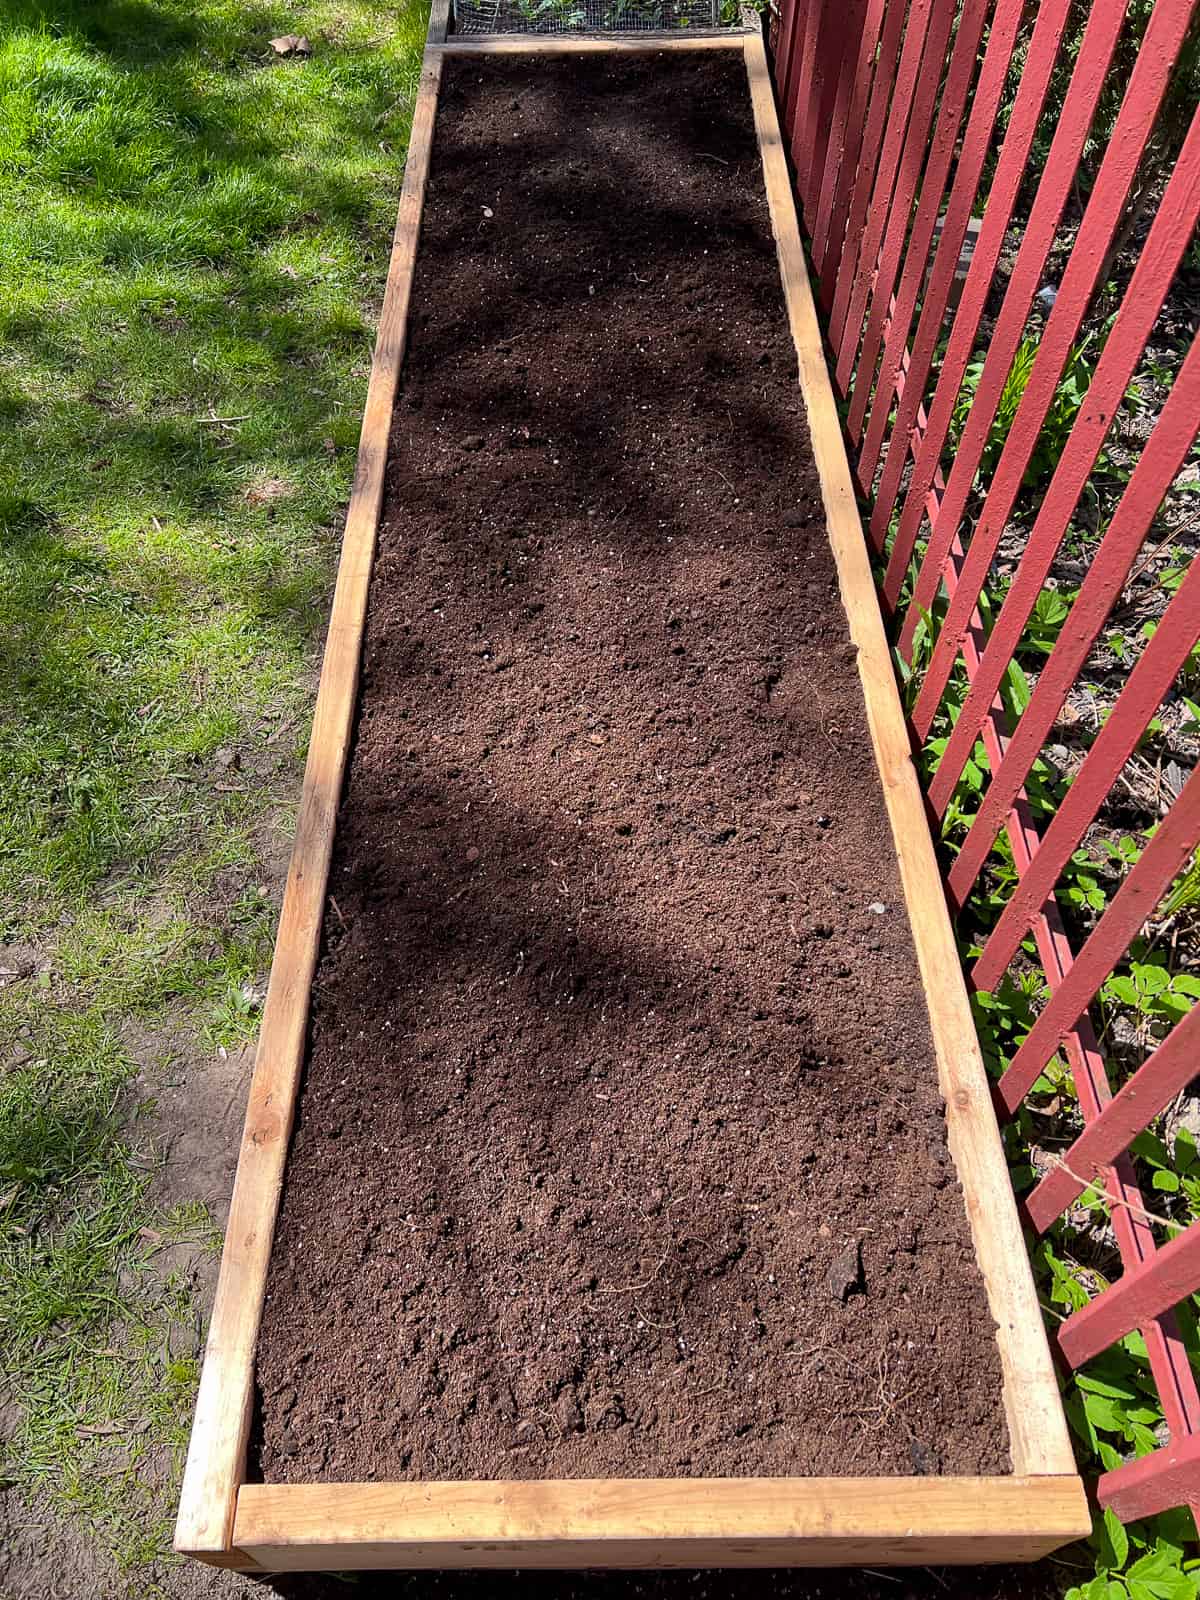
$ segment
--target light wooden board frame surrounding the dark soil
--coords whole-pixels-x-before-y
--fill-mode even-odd
[[[762,37],[446,40],[435,0],[358,466],[184,1475],[176,1549],[243,1571],[782,1566],[1034,1560],[1090,1531],[933,842],[912,765],[805,267]],[[742,50],[842,600],[926,990],[974,1250],[997,1323],[1013,1475],[245,1482],[254,1349],[304,1059],[384,464],[448,53]]]

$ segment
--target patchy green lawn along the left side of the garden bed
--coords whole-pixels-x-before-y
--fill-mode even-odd
[[[162,1261],[214,1234],[155,1198],[131,1040],[254,1032],[422,37],[0,14],[0,1472],[142,1587],[195,1379]]]

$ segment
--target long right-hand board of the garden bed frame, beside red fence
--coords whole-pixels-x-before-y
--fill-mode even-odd
[[[867,722],[930,1005],[950,1155],[958,1171],[976,1256],[997,1322],[1013,1470],[1018,1475],[1072,1474],[1075,1462],[1067,1424],[1042,1326],[979,1040],[966,1000],[925,803],[912,765],[909,731],[896,691],[800,243],[766,53],[758,37],[750,35],[746,40],[746,67],[787,314],[800,360],[800,389],[821,477],[829,541],[837,562],[850,635],[858,646]]]

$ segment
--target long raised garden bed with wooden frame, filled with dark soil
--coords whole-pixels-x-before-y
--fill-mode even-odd
[[[1045,1554],[1086,1507],[762,42],[440,27],[178,1546]]]

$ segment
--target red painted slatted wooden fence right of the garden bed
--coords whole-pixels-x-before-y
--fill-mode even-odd
[[[1069,938],[1056,891],[1150,720],[1189,656],[1195,659],[1200,562],[1158,618],[1045,834],[1029,781],[1200,430],[1194,325],[1032,693],[1014,707],[1003,688],[1195,237],[1200,110],[1190,125],[1179,120],[1176,96],[1179,138],[1144,211],[1149,229],[1141,245],[1120,238],[1150,152],[1162,150],[1163,107],[1181,64],[1189,50],[1197,59],[1197,3],[1155,0],[1147,14],[1134,0],[1126,14],[1123,0],[779,0],[773,18],[776,88],[830,368],[885,614],[914,674],[914,750],[928,752],[939,730],[946,736],[936,768],[926,762],[936,818],[947,814],[968,763],[984,765],[982,741],[979,805],[947,859],[952,910],[968,904],[998,840],[1014,869],[970,978],[978,990],[995,990],[1024,947],[1046,981],[997,1102],[1002,1115],[1014,1114],[1061,1051],[1085,1123],[1062,1158],[1042,1170],[1027,1219],[1045,1232],[1091,1189],[1107,1197],[1120,1253],[1120,1275],[1101,1280],[1090,1304],[1064,1320],[1058,1349],[1077,1368],[1139,1330],[1163,1406],[1166,1442],[1099,1482],[1101,1504],[1126,1522],[1179,1504],[1200,1512],[1200,1395],[1178,1318],[1200,1288],[1200,1222],[1165,1229],[1142,1198],[1130,1154],[1134,1138],[1200,1075],[1200,1005],[1147,1046],[1139,1066],[1126,1064],[1114,1091],[1096,997],[1200,843],[1200,768],[1184,778],[1083,936]],[[1098,118],[1106,94],[1107,123]],[[1085,152],[1098,162],[1086,195]],[[966,264],[973,218],[978,237]],[[1064,258],[1056,242],[1067,240]],[[986,584],[1072,352],[1094,322],[1115,243],[1136,266],[1117,291],[1086,395],[992,614]],[[1051,275],[1058,283],[1048,296]],[[986,466],[1038,298],[1048,310],[1027,381]]]

